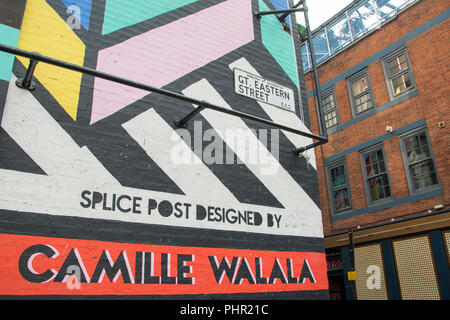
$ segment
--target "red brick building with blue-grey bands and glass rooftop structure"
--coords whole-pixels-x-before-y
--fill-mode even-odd
[[[313,32],[332,299],[450,298],[449,5],[354,1]],[[302,53],[318,133],[306,44]]]

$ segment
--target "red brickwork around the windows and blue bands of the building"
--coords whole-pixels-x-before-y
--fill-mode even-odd
[[[435,16],[449,9],[449,2],[442,0],[422,0],[399,14],[381,29],[372,32],[362,40],[353,44],[318,68],[319,81],[324,84],[358,63],[401,39]],[[316,148],[317,171],[320,185],[320,202],[323,214],[325,234],[335,233],[343,229],[375,224],[382,220],[400,217],[406,214],[423,214],[436,204],[447,205],[450,189],[449,168],[449,124],[450,124],[450,87],[448,75],[450,67],[448,52],[450,36],[448,19],[406,43],[407,53],[418,95],[395,106],[387,108],[373,116],[337,131],[329,136],[329,143]],[[376,106],[390,101],[381,60],[368,66],[370,82]],[[312,72],[305,75],[307,92],[314,86]],[[353,118],[348,96],[346,80],[334,86],[340,123]],[[308,100],[313,133],[318,133],[318,120],[314,97]],[[330,201],[326,183],[323,159],[337,152],[347,150],[362,142],[379,137],[386,133],[386,126],[398,129],[419,119],[425,119],[431,140],[434,159],[442,188],[442,195],[417,202],[410,202],[390,209],[362,214],[353,218],[331,221]],[[438,124],[445,121],[445,127]],[[391,189],[394,199],[410,195],[406,173],[397,136],[383,141],[388,164]],[[364,191],[363,175],[359,152],[346,156],[349,181],[351,185],[353,208],[367,207]]]

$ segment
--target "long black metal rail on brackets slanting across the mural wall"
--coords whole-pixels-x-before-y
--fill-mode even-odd
[[[176,92],[172,92],[172,91],[168,91],[168,90],[152,87],[152,86],[149,86],[149,85],[144,84],[144,83],[136,82],[136,81],[133,81],[133,80],[130,80],[130,79],[125,79],[125,78],[118,77],[118,76],[115,76],[115,75],[112,75],[112,74],[109,74],[109,73],[105,73],[105,72],[102,72],[102,71],[98,71],[98,70],[95,70],[95,69],[82,67],[82,66],[79,66],[79,65],[76,65],[76,64],[72,64],[70,62],[66,62],[66,61],[54,59],[54,58],[51,58],[51,57],[47,57],[47,56],[41,55],[40,53],[37,53],[37,52],[26,51],[26,50],[18,49],[18,48],[7,46],[7,45],[3,45],[3,44],[0,44],[0,51],[7,52],[7,53],[10,53],[10,54],[14,54],[14,55],[17,55],[17,56],[21,56],[21,57],[25,57],[25,58],[30,59],[30,66],[27,69],[27,72],[25,74],[25,78],[24,79],[19,79],[17,81],[17,85],[20,88],[23,88],[23,89],[28,89],[28,90],[33,90],[34,89],[33,82],[32,82],[33,72],[34,72],[34,69],[36,68],[37,63],[38,62],[43,62],[43,63],[51,64],[51,65],[54,65],[54,66],[57,66],[57,67],[61,67],[61,68],[64,68],[64,69],[69,69],[69,70],[80,72],[80,73],[83,73],[83,74],[88,74],[88,75],[91,75],[91,76],[94,76],[94,77],[98,77],[98,78],[102,78],[102,79],[109,80],[109,81],[112,81],[112,82],[120,83],[120,84],[127,85],[127,86],[130,86],[130,87],[134,87],[134,88],[137,88],[137,89],[142,89],[142,90],[145,90],[145,91],[158,93],[158,94],[161,94],[161,95],[164,95],[164,96],[168,96],[168,97],[171,97],[171,98],[175,98],[175,99],[178,99],[178,100],[182,100],[182,101],[189,102],[189,103],[192,103],[194,105],[197,105],[198,107],[194,111],[189,113],[186,117],[184,117],[181,120],[178,120],[178,121],[175,120],[174,121],[177,126],[184,126],[190,119],[192,119],[197,113],[199,113],[203,109],[212,109],[212,110],[216,110],[218,112],[226,113],[226,114],[229,114],[229,115],[232,115],[232,116],[245,118],[245,119],[252,120],[252,121],[255,121],[255,122],[258,122],[258,123],[262,123],[262,124],[265,124],[265,125],[268,125],[268,126],[272,126],[272,127],[275,127],[275,128],[281,129],[281,130],[285,130],[285,131],[288,131],[288,132],[300,135],[300,136],[304,136],[304,137],[308,137],[308,138],[312,138],[312,139],[318,140],[317,142],[313,143],[312,145],[309,145],[309,146],[305,147],[305,148],[308,148],[308,149],[309,148],[313,148],[313,147],[315,147],[317,145],[321,145],[321,144],[324,144],[324,143],[328,142],[328,138],[327,137],[322,137],[322,136],[318,136],[318,135],[315,135],[315,134],[312,134],[312,133],[308,133],[308,132],[304,132],[304,131],[301,131],[301,130],[298,130],[298,129],[287,127],[287,126],[284,126],[282,124],[278,124],[278,123],[272,122],[270,120],[266,120],[266,119],[263,119],[263,118],[255,117],[253,115],[250,115],[250,114],[247,114],[247,113],[243,113],[243,112],[240,112],[240,111],[227,109],[227,108],[224,108],[224,107],[221,107],[221,106],[209,103],[207,101],[202,101],[202,100],[198,100],[198,99],[195,99],[195,98],[191,98],[191,97],[188,97],[188,96],[176,93]]]

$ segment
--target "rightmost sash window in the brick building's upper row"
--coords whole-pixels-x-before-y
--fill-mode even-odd
[[[415,88],[405,48],[386,57],[383,60],[383,69],[391,100]]]

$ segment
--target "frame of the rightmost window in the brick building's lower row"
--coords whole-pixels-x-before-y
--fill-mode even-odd
[[[405,147],[404,140],[407,139],[407,138],[411,138],[413,136],[418,136],[418,135],[420,135],[422,133],[425,133],[425,136],[427,138],[428,148],[429,148],[429,151],[430,151],[429,159],[431,159],[433,161],[437,183],[434,184],[434,185],[431,185],[431,186],[427,186],[427,187],[421,188],[421,189],[416,189],[414,187],[413,178],[411,176],[411,171],[410,171],[410,168],[409,168],[410,164],[408,163],[408,155],[406,154],[406,147]],[[428,129],[426,127],[417,128],[415,130],[412,130],[412,131],[409,131],[409,132],[407,132],[405,134],[402,134],[398,138],[399,138],[400,149],[401,149],[401,153],[402,153],[403,167],[404,167],[405,174],[406,174],[406,180],[408,182],[409,193],[411,195],[414,195],[414,194],[420,194],[420,193],[428,192],[428,191],[435,190],[435,189],[440,189],[441,188],[441,182],[440,182],[440,179],[439,179],[438,169],[437,169],[437,165],[436,165],[435,156],[434,156],[434,153],[433,153],[433,148],[431,146],[431,141],[430,141],[430,136],[428,134]],[[425,160],[428,160],[428,158],[425,159]],[[425,161],[425,160],[421,160],[421,161]]]

